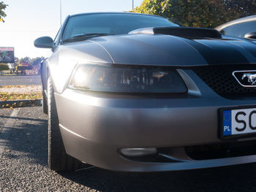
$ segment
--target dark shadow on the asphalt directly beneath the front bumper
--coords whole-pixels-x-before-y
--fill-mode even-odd
[[[95,168],[60,174],[99,191],[256,191],[255,170],[256,164],[246,164],[181,172],[121,173]]]

